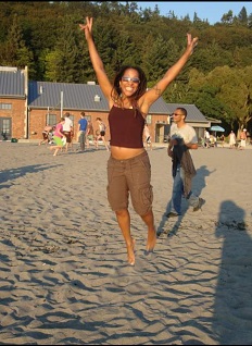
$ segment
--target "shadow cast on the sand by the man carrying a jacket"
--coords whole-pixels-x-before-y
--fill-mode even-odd
[[[206,169],[206,165],[202,165],[201,168],[199,168],[197,170],[197,175],[193,177],[192,180],[192,190],[196,195],[200,196],[203,188],[206,186],[205,184],[205,177],[209,176],[210,174],[214,173],[216,171],[213,170],[212,172],[210,172]],[[172,172],[171,172],[171,178],[172,177]],[[172,196],[171,196],[172,197]],[[180,217],[174,219],[174,221],[176,220],[176,222],[173,224],[172,227],[169,227],[168,230],[165,230],[165,224],[167,223],[167,217],[166,214],[168,213],[168,211],[171,210],[171,199],[168,200],[165,211],[162,215],[162,219],[160,221],[160,224],[156,227],[156,235],[161,236],[162,234],[168,234],[168,236],[173,236],[176,234],[177,230],[179,228],[181,221],[184,219],[184,214],[187,212],[188,210],[188,202],[185,200],[185,198],[182,198],[182,202],[181,202],[181,209],[182,209],[182,213]]]

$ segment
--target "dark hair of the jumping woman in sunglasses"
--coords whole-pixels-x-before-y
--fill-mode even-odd
[[[119,82],[122,81],[122,77],[123,77],[125,71],[128,70],[128,69],[136,70],[138,72],[138,76],[139,76],[139,79],[140,79],[140,83],[138,85],[137,91],[131,97],[133,100],[137,101],[147,90],[147,77],[146,77],[144,72],[138,66],[130,66],[130,65],[123,66],[119,70],[119,72],[117,72],[117,74],[114,77],[113,88],[112,88],[112,91],[111,91],[112,100],[115,103],[118,103],[118,106],[122,106],[121,101],[119,101],[119,96],[121,96]]]

